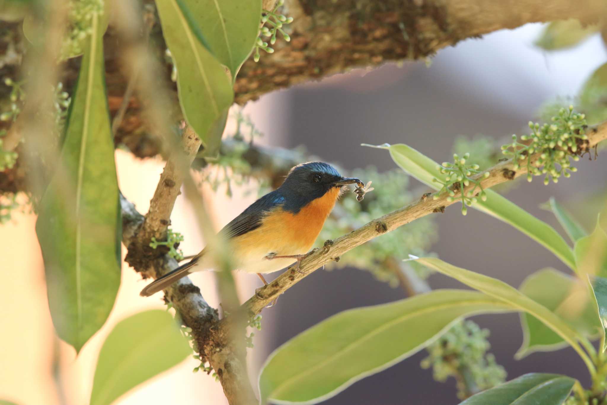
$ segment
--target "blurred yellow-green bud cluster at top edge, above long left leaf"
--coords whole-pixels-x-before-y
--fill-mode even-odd
[[[84,40],[93,32],[93,15],[103,15],[103,6],[103,0],[71,0],[67,3],[67,29],[59,53],[61,60],[84,52]]]

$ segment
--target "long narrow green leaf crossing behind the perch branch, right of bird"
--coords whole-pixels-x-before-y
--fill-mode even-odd
[[[390,156],[392,156],[394,162],[407,174],[412,175],[420,182],[435,190],[440,188],[438,183],[432,182],[432,179],[435,177],[440,180],[444,180],[446,177],[445,174],[436,169],[438,163],[402,143],[392,146],[388,145],[384,148],[390,151]],[[479,200],[472,204],[473,208],[509,223],[554,253],[555,256],[570,268],[575,269],[575,259],[571,248],[552,226],[527,213],[527,211],[500,196],[497,192],[492,190],[486,190],[485,192],[487,200]]]

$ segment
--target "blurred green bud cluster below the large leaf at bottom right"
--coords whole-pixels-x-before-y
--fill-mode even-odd
[[[487,354],[488,336],[489,330],[475,322],[459,321],[427,347],[429,356],[421,367],[432,367],[434,379],[441,383],[450,376],[455,378],[461,400],[495,387],[506,380],[506,370],[495,362],[495,356]]]

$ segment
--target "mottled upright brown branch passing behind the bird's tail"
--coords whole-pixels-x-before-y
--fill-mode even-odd
[[[123,243],[128,247],[125,260],[144,278],[157,278],[178,267],[175,259],[162,254],[160,250],[153,250],[149,242],[152,237],[159,240],[166,237],[175,199],[180,194],[181,185],[200,146],[200,138],[188,126],[182,140],[184,150],[174,148],[171,152],[145,217],[121,196]],[[200,358],[208,361],[219,376],[228,402],[257,404],[246,369],[246,349],[234,338],[243,335],[245,325],[240,325],[240,334],[232,325],[220,329],[217,310],[206,303],[200,289],[188,277],[167,288],[164,298],[173,304],[183,323],[192,328]]]

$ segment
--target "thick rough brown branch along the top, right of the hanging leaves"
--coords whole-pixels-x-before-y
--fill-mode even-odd
[[[285,7],[294,18],[291,42],[279,40],[272,55],[246,61],[234,87],[239,104],[353,67],[425,58],[462,39],[528,22],[588,24],[607,14],[602,0],[291,0]]]

